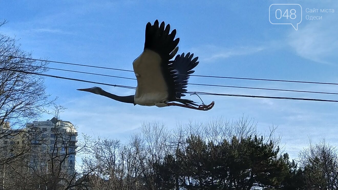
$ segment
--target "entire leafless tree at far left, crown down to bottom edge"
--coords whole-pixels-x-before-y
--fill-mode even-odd
[[[0,26],[6,21],[1,21]],[[22,57],[22,58],[17,58]],[[47,62],[29,60],[31,53],[22,51],[15,38],[0,33],[0,170],[1,187],[7,188],[11,173],[25,173],[24,159],[31,152],[30,135],[25,124],[38,119],[52,104],[45,92],[44,79],[32,73],[46,71]],[[23,140],[25,139],[25,140]],[[20,167],[16,167],[20,166]],[[12,182],[26,180],[14,176]],[[17,183],[17,182],[15,182]],[[28,182],[26,183],[27,186]]]

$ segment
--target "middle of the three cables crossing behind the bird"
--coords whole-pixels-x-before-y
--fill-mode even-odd
[[[8,62],[4,62],[8,63]],[[9,63],[10,64],[10,63]],[[121,76],[115,76],[115,75],[105,75],[105,74],[98,74],[98,73],[89,73],[89,72],[82,72],[82,71],[72,71],[67,69],[57,69],[57,68],[51,68],[51,67],[41,67],[41,66],[34,66],[34,65],[25,65],[25,64],[19,64],[18,65],[23,66],[32,66],[32,67],[39,67],[39,68],[45,68],[45,69],[53,69],[53,70],[60,70],[60,71],[68,71],[68,72],[75,72],[75,73],[84,73],[84,74],[92,74],[92,75],[99,75],[99,76],[108,76],[108,77],[115,77],[115,78],[124,78],[124,79],[131,79],[131,80],[137,80],[136,78],[129,78],[129,77],[121,77]],[[338,94],[333,92],[316,92],[316,91],[302,91],[302,90],[287,90],[287,89],[272,89],[272,88],[256,88],[256,87],[239,87],[239,86],[226,86],[226,85],[210,85],[210,84],[195,84],[195,83],[188,83],[189,85],[198,85],[198,86],[211,86],[211,87],[228,87],[228,88],[242,88],[242,89],[258,89],[258,90],[274,90],[274,91],[286,91],[286,92],[304,92],[304,93],[317,93],[317,94]]]

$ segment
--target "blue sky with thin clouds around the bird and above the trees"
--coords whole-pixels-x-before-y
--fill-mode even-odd
[[[273,3],[296,3],[303,8],[302,22],[296,31],[291,25],[269,22]],[[198,75],[308,80],[338,83],[337,13],[306,13],[306,8],[331,8],[336,1],[2,1],[0,27],[20,39],[22,49],[33,58],[52,61],[132,69],[132,61],[142,52],[147,22],[170,23],[180,38],[179,53],[199,56]],[[306,20],[306,15],[322,20]],[[50,67],[84,72],[135,77],[133,73],[51,63]],[[48,74],[136,86],[135,80],[100,77],[79,73],[48,71]],[[191,77],[191,83],[282,88],[338,92],[337,86],[291,84],[235,79]],[[116,102],[98,95],[76,91],[93,84],[46,78],[47,92],[58,96],[57,103],[68,108],[62,119],[92,136],[125,140],[143,122],[164,122],[168,128],[177,123],[203,122],[219,116],[237,119],[244,114],[258,122],[260,132],[277,126],[281,145],[291,158],[321,138],[338,144],[338,103],[274,100],[242,97],[201,96],[215,101],[208,112],[184,108],[156,108]],[[118,95],[133,90],[101,86]],[[200,87],[189,91],[263,96],[335,99],[336,95],[279,91]],[[197,97],[191,97],[198,100]],[[44,116],[49,119],[51,116]]]

